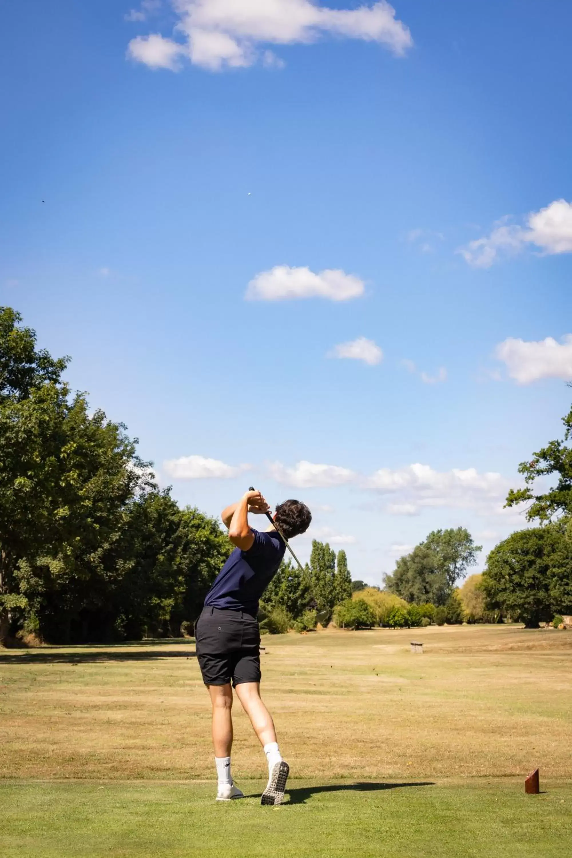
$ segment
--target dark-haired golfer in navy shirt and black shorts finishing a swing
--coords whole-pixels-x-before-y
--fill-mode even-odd
[[[258,600],[278,571],[286,545],[272,525],[266,532],[250,528],[248,513],[264,514],[268,504],[260,492],[246,492],[226,507],[222,520],[236,546],[209,589],[196,623],[196,655],[213,704],[213,745],[219,788],[217,801],[244,798],[232,782],[232,686],[250,718],[268,761],[263,805],[284,798],[289,767],[280,755],[272,716],[260,697],[260,629]],[[276,507],[274,521],[287,540],[310,526],[308,507],[286,500]]]

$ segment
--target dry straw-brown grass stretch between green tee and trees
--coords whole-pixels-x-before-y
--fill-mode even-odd
[[[409,641],[424,642],[413,655]],[[516,626],[265,637],[263,696],[298,777],[572,770],[572,633]],[[0,776],[212,776],[190,642],[0,652]],[[237,704],[233,766],[264,760]]]

